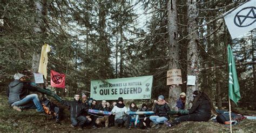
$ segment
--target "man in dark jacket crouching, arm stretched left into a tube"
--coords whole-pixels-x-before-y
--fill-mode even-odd
[[[80,95],[75,94],[73,101],[65,101],[62,100],[60,103],[68,106],[70,110],[70,120],[71,120],[71,127],[77,127],[79,125],[79,129],[83,129],[83,126],[86,122],[86,117],[83,116],[83,112],[87,110],[84,106],[82,101],[80,101]]]

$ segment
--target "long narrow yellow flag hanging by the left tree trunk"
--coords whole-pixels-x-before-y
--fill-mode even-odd
[[[51,50],[50,46],[48,44],[44,44],[42,46],[41,51],[41,57],[40,57],[40,63],[39,63],[39,69],[38,72],[42,73],[44,75],[44,78],[47,77],[47,63],[48,63],[48,52]]]

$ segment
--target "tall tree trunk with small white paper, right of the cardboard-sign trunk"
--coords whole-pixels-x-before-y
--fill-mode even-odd
[[[198,90],[198,35],[197,31],[195,30],[198,27],[197,17],[198,17],[198,10],[197,10],[197,1],[196,0],[187,0],[188,10],[187,10],[187,29],[188,29],[188,38],[190,41],[188,42],[187,46],[187,75],[196,76],[196,85],[188,86],[187,93],[186,93],[186,104],[185,108],[192,107],[192,93]]]

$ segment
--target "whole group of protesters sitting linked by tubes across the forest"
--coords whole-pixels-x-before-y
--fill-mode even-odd
[[[35,87],[26,83],[25,76],[21,73],[16,73],[14,78],[15,80],[9,84],[7,91],[10,106],[18,111],[24,108],[36,108],[37,112],[44,112],[38,95],[28,93],[28,90],[35,90]],[[151,109],[145,103],[139,108],[134,102],[131,102],[130,106],[126,108],[122,97],[118,98],[117,102],[112,102],[112,104],[106,100],[102,100],[100,104],[97,104],[96,100],[87,98],[85,94],[82,94],[81,99],[79,94],[75,94],[73,101],[62,100],[61,104],[69,107],[71,127],[83,129],[87,125],[96,129],[109,128],[116,125],[117,128],[125,127],[126,129],[131,129],[131,127],[158,129],[164,123],[171,127],[183,121],[208,121],[211,117],[211,101],[207,94],[201,91],[194,91],[193,97],[194,101],[191,109],[184,110],[186,94],[184,92],[181,93],[180,98],[177,100],[176,108],[171,110],[164,96],[159,95],[152,107],[153,115],[130,115],[129,112],[146,112]],[[92,114],[89,113],[89,109],[111,112],[111,115]],[[168,122],[170,114],[176,114],[179,117]],[[152,124],[150,124],[151,122]]]

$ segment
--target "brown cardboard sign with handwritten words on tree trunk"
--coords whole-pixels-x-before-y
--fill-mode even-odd
[[[167,71],[167,85],[177,85],[177,84],[182,84],[181,70],[172,69]]]

